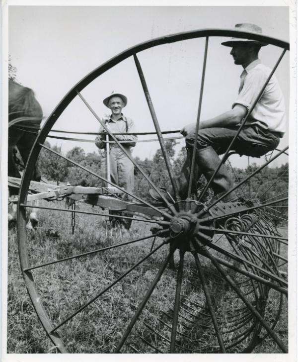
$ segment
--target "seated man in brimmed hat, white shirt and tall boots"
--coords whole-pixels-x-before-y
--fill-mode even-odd
[[[235,29],[262,33],[262,29],[254,24],[236,24]],[[219,155],[224,154],[228,149],[241,122],[251,109],[271,73],[271,69],[261,64],[260,59],[258,59],[260,48],[268,44],[255,40],[232,38],[223,42],[222,45],[232,48],[230,54],[234,64],[241,65],[244,70],[240,76],[239,94],[233,102],[232,108],[217,117],[202,120],[199,123],[194,170],[195,184],[202,174],[207,181],[211,180],[221,162]],[[278,146],[285,128],[284,98],[277,79],[273,75],[230,150],[239,155],[260,157]],[[194,148],[195,129],[196,123],[191,123],[184,126],[180,131],[186,137],[186,148],[189,156],[192,155]],[[191,163],[189,156],[182,167],[180,177],[176,180],[182,199],[187,197]],[[216,173],[210,186],[214,191],[212,202],[232,188],[233,181],[224,165]],[[171,196],[174,194],[173,190],[169,193]],[[150,195],[154,199],[160,200],[159,195],[154,190],[150,190]],[[169,199],[166,193],[165,197]],[[221,201],[229,202],[236,198],[236,194],[232,191]]]

